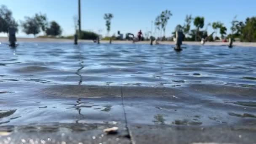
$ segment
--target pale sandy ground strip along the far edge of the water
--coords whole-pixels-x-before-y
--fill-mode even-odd
[[[65,42],[65,43],[72,43],[72,39],[57,39],[57,38],[17,38],[17,42]],[[83,42],[83,43],[93,43],[92,40],[79,40],[78,42]],[[0,37],[0,43],[8,43],[8,38],[7,37]],[[101,43],[109,43],[109,41],[106,40],[101,40]],[[112,41],[112,43],[132,43],[131,41],[121,41],[121,40],[115,40]],[[141,41],[141,42],[136,42],[137,44],[149,44],[149,41]],[[160,42],[160,44],[167,44],[167,45],[174,45],[175,42],[171,41],[165,41],[165,42]],[[188,42],[184,41],[183,44],[187,45],[201,45],[200,42]],[[228,43],[223,43],[223,42],[207,42],[205,45],[228,45]],[[242,47],[256,47],[256,43],[244,43],[244,42],[234,42],[234,46],[242,46]]]

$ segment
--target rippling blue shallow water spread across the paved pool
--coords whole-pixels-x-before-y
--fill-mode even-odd
[[[0,44],[0,125],[256,125],[256,48]]]

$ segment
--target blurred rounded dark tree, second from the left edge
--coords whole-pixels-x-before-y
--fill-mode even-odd
[[[21,21],[21,27],[23,27],[23,32],[27,35],[32,34],[34,37],[40,32],[40,25],[37,24],[34,17],[25,17],[25,21]]]

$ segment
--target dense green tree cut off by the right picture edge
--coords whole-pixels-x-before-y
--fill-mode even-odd
[[[256,42],[256,17],[247,18],[242,30],[242,39],[246,42]]]

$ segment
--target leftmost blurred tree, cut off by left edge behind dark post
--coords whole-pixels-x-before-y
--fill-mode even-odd
[[[12,27],[18,31],[18,24],[12,17],[12,12],[5,6],[0,7],[0,32],[8,33],[8,28]]]

